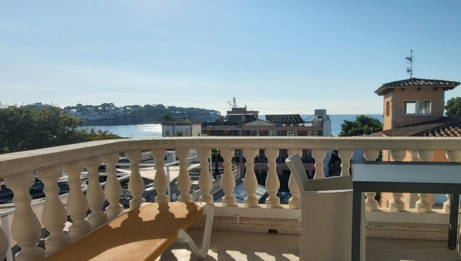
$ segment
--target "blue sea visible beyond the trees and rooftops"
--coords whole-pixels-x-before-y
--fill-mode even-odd
[[[341,124],[344,120],[354,121],[355,117],[360,114],[329,114],[331,120],[331,133],[333,136],[337,136],[341,132]],[[365,116],[373,117],[383,122],[383,114],[364,114]],[[264,115],[260,115],[261,120],[265,120]],[[312,115],[301,115],[301,118],[305,120],[312,120]],[[160,124],[137,124],[137,125],[86,125],[81,126],[81,129],[101,129],[103,131],[109,131],[113,134],[124,138],[149,138],[149,137],[161,137],[162,136],[162,125]]]

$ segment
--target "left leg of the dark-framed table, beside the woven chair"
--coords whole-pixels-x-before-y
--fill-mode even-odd
[[[362,228],[362,192],[353,190],[352,198],[352,261],[360,261],[360,228]]]

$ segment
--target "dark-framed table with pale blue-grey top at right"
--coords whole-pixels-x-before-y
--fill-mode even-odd
[[[360,260],[361,196],[363,192],[451,194],[449,248],[456,248],[461,163],[352,162],[352,260]]]

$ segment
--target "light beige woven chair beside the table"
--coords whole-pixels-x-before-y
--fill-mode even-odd
[[[299,260],[351,260],[352,177],[309,180],[299,154],[285,163],[301,195]]]

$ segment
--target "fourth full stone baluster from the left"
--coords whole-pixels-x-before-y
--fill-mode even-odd
[[[87,159],[85,165],[88,171],[87,201],[91,210],[88,221],[92,229],[94,229],[107,222],[107,214],[103,212],[106,195],[104,195],[101,183],[99,183],[99,166],[101,165],[101,159]]]

